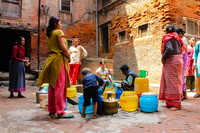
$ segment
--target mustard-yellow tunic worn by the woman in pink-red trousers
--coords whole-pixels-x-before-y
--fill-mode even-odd
[[[60,49],[58,38],[64,37],[62,30],[52,31],[51,36],[48,38],[48,45],[50,54],[43,66],[41,74],[39,76],[37,85],[42,85],[43,83],[49,83],[53,88],[56,87],[57,79],[61,70],[62,63],[65,65],[65,71],[68,72],[68,59],[62,53]],[[68,47],[67,41],[65,41],[66,46]],[[69,75],[66,73],[66,86],[69,87]]]

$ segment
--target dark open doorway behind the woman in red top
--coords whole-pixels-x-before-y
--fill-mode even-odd
[[[18,36],[23,36],[25,38],[25,56],[30,57],[30,31],[0,28],[0,71],[9,71],[9,61],[11,59],[12,47],[15,45],[15,41]]]

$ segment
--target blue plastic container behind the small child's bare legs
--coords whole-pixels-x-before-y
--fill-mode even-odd
[[[90,106],[87,106],[86,111],[85,111],[86,114],[93,113],[93,103],[92,103],[92,99],[90,100],[90,102],[91,102],[91,105],[90,105]],[[80,112],[80,113],[82,113],[82,111],[83,111],[83,103],[84,103],[84,98],[83,98],[83,95],[81,95],[81,96],[79,97],[79,100],[78,100],[78,109],[79,109],[79,112]]]

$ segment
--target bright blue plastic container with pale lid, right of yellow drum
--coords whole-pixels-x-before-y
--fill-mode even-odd
[[[158,96],[153,92],[142,93],[140,110],[143,112],[156,112],[158,110]]]

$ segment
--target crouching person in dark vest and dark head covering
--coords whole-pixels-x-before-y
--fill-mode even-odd
[[[134,81],[138,75],[129,69],[128,65],[122,65],[120,68],[121,72],[126,76],[126,80],[123,80],[121,87],[124,91],[133,91],[134,90]]]

